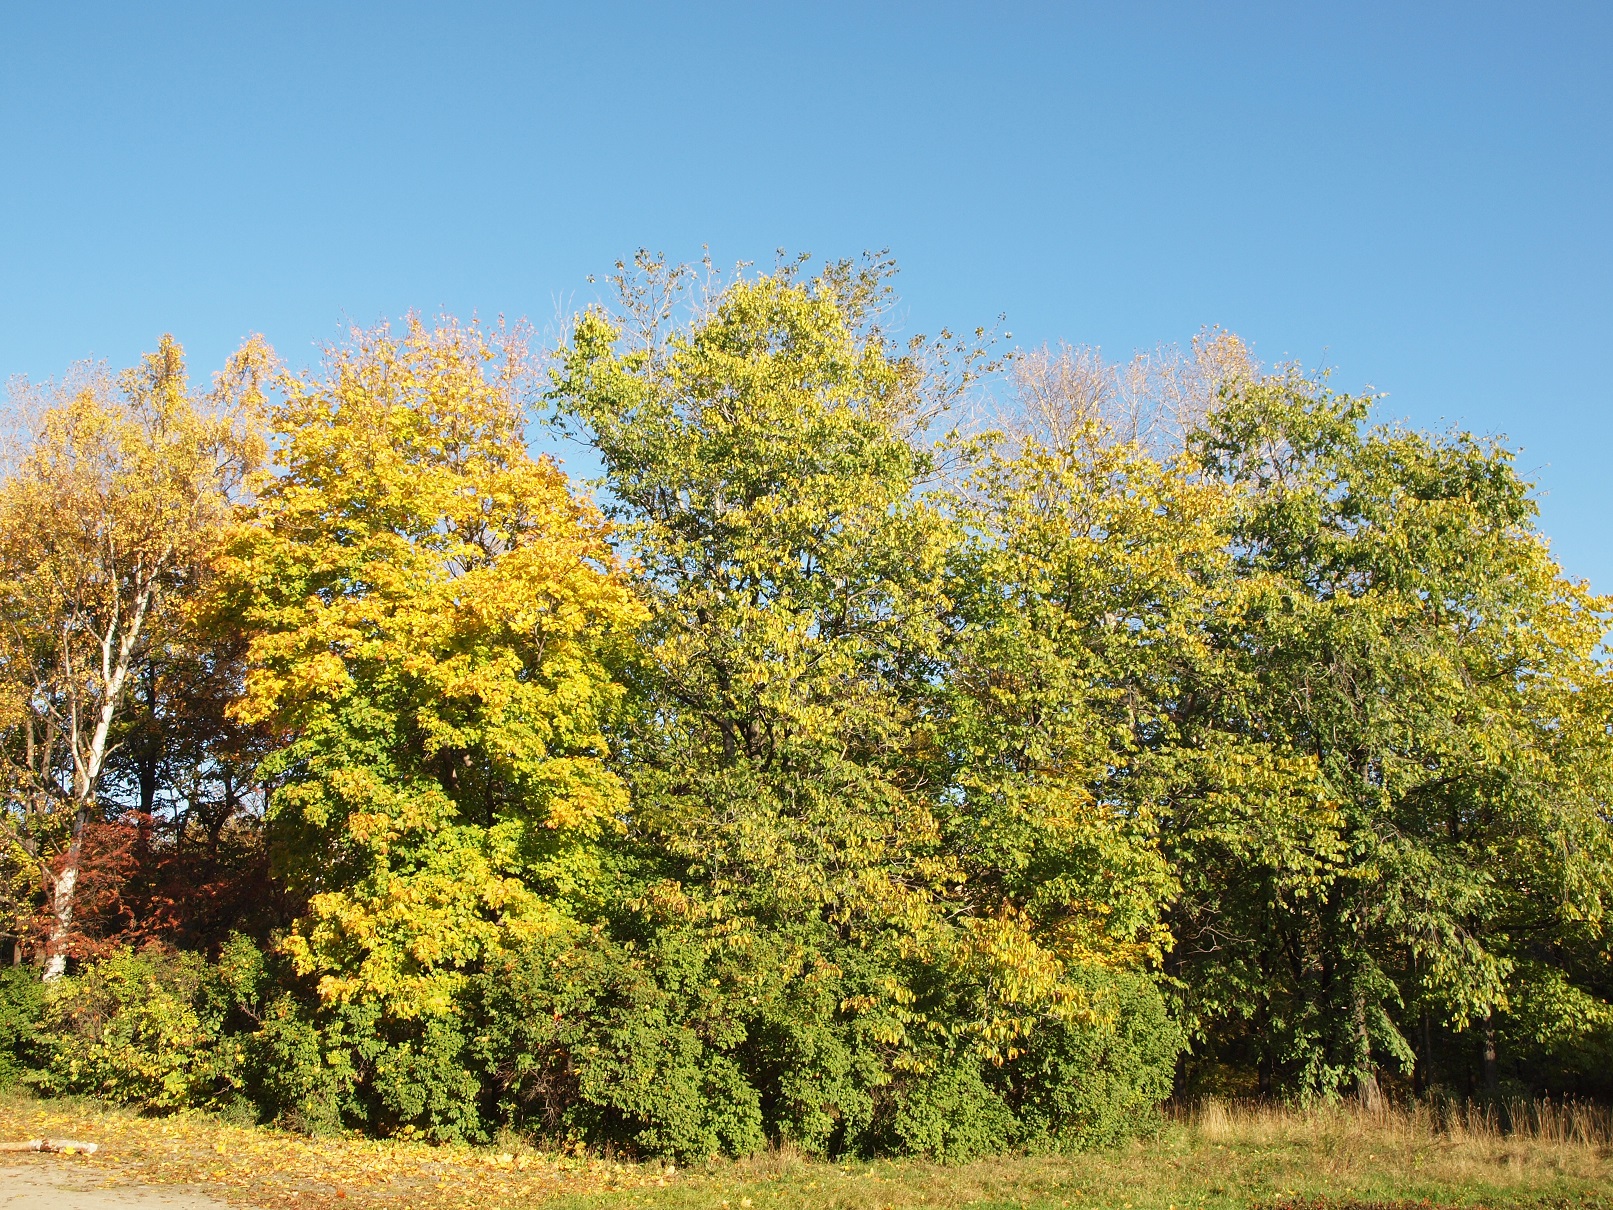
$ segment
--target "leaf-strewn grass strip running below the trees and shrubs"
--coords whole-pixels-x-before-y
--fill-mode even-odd
[[[1166,1121],[1152,1139],[1082,1155],[940,1166],[821,1163],[776,1150],[668,1170],[539,1152],[513,1139],[482,1149],[308,1139],[205,1115],[142,1118],[94,1102],[0,1099],[0,1137],[39,1136],[89,1139],[103,1150],[5,1160],[84,1165],[110,1181],[192,1184],[242,1205],[306,1210],[1231,1210],[1374,1202],[1613,1210],[1610,1123],[1589,1110],[1534,1115],[1503,1133],[1484,1115],[1436,1123],[1421,1110],[1207,1105]]]

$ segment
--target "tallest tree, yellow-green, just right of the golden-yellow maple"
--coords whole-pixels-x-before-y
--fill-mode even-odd
[[[650,608],[623,752],[645,894],[739,1000],[777,1128],[855,1142],[927,1036],[952,947],[934,744],[947,519],[910,440],[940,400],[874,324],[881,266],[727,286],[640,263],[582,316],[555,398],[605,465]]]

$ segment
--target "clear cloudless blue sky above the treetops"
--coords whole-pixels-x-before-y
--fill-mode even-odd
[[[6,3],[0,153],[3,376],[889,247],[913,329],[1223,324],[1505,432],[1613,590],[1607,0]]]

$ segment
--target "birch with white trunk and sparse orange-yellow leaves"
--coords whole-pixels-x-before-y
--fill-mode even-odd
[[[45,979],[66,970],[131,670],[205,578],[261,455],[252,416],[269,361],[248,340],[195,397],[165,336],[116,381],[45,392],[0,486],[0,794],[11,863],[45,891]]]

